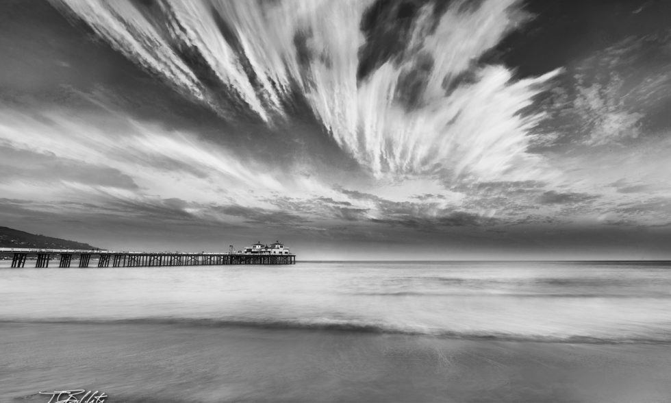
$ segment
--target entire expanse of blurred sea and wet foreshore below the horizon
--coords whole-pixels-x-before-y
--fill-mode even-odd
[[[9,264],[3,402],[671,401],[670,262]]]

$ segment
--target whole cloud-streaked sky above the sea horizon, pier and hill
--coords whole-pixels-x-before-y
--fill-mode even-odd
[[[671,2],[0,2],[0,225],[671,258]]]

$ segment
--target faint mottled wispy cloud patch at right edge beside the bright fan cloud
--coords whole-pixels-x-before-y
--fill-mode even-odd
[[[668,127],[670,43],[667,34],[629,36],[568,66],[540,97],[548,119],[539,146],[631,145]]]

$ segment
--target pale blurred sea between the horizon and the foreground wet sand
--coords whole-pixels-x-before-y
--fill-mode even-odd
[[[201,321],[548,341],[671,341],[666,262],[300,262],[0,269],[0,320]]]

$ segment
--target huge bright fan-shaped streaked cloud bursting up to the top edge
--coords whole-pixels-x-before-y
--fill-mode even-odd
[[[514,80],[503,66],[475,63],[528,19],[519,1],[375,5],[392,9],[379,18],[362,1],[54,3],[226,119],[273,126],[302,99],[378,178],[548,174],[527,152],[542,115],[522,110],[557,72]],[[407,14],[400,32],[390,28],[394,10]]]

